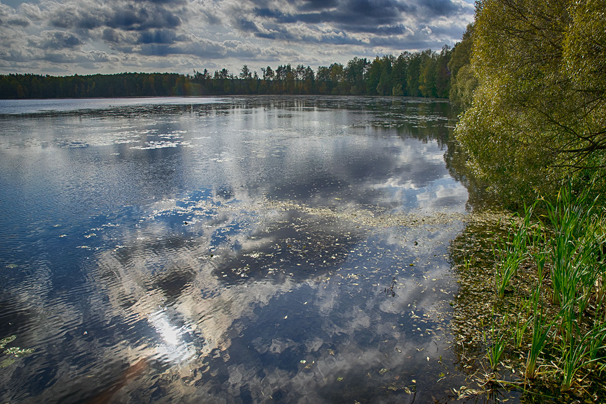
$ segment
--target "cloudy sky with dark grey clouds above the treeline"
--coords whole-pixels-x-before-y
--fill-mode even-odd
[[[0,0],[0,74],[237,74],[454,45],[472,0]]]

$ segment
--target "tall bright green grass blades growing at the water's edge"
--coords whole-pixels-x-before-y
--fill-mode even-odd
[[[543,216],[533,216],[536,204],[525,207],[522,224],[494,252],[499,298],[504,297],[521,264],[533,258],[538,282],[530,301],[522,302],[525,308],[530,304],[531,316],[528,322],[518,318],[513,340],[521,346],[531,325],[525,377],[536,377],[539,357],[549,349],[556,358],[551,362],[561,377],[562,392],[570,391],[579,380],[579,371],[595,363],[606,368],[606,220],[604,207],[589,194],[590,190],[574,194],[568,183],[555,200],[542,201]],[[537,219],[534,223],[533,218]],[[542,296],[551,299],[544,302]],[[545,304],[550,310],[545,310]],[[494,336],[494,325],[491,334],[488,359],[494,368],[505,347]]]

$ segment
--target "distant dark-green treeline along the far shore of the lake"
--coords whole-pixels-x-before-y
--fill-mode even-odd
[[[227,69],[176,73],[119,73],[116,75],[48,76],[0,75],[0,98],[95,98],[132,96],[204,96],[228,94],[334,94],[448,98],[453,53],[445,45],[437,53],[425,50],[385,55],[373,60],[353,58],[347,65],[318,67],[244,65],[238,73]]]

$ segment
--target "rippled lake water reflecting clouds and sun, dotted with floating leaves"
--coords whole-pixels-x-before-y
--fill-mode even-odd
[[[0,356],[1,402],[451,400],[455,122],[424,99],[2,101],[0,339],[34,351]]]

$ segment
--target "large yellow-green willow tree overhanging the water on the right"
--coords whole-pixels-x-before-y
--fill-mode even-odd
[[[479,86],[456,136],[473,171],[508,199],[605,177],[603,10],[603,0],[476,2]]]

